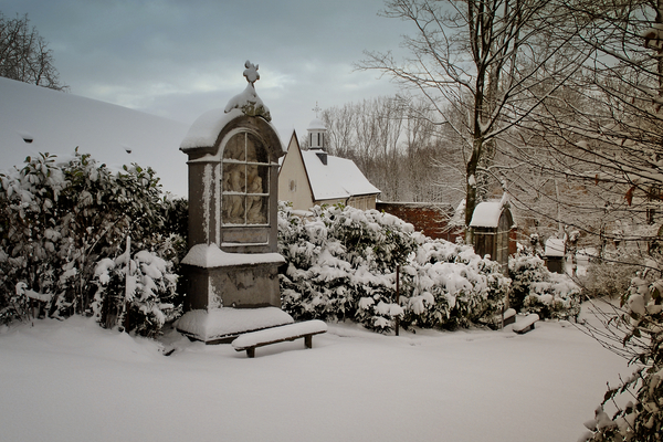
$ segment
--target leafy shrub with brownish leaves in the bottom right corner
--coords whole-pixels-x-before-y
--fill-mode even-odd
[[[663,280],[661,272],[649,266],[631,281],[629,291],[621,298],[621,313],[604,323],[610,336],[623,333],[619,346],[632,355],[630,364],[635,372],[623,382],[610,388],[594,418],[586,422],[589,431],[579,441],[660,441],[663,429]],[[652,273],[656,273],[652,277]],[[615,333],[618,332],[618,333]],[[625,404],[617,399],[624,394]],[[604,406],[617,406],[610,417]]]

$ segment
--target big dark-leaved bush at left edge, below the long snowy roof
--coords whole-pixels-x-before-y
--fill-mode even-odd
[[[114,172],[75,151],[57,160],[42,154],[0,173],[0,323],[33,313],[25,294],[42,294],[41,313],[88,313],[96,264],[117,255],[130,235],[137,250],[165,251],[165,221],[173,203],[154,170],[137,165]],[[164,256],[177,262],[181,252]],[[24,287],[18,291],[17,287]]]

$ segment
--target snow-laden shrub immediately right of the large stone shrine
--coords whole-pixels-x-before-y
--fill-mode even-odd
[[[325,206],[309,219],[278,211],[283,308],[295,318],[350,318],[388,330],[401,314],[394,271],[414,249],[412,225],[377,210]]]

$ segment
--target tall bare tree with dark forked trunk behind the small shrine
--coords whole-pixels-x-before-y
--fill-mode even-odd
[[[383,15],[408,20],[414,36],[404,36],[411,57],[367,52],[362,70],[378,70],[423,94],[462,140],[465,165],[465,225],[482,198],[480,182],[501,137],[518,126],[583,62],[572,52],[575,35],[560,36],[560,15],[548,0],[393,0]],[[567,51],[568,50],[568,51]],[[551,63],[566,52],[566,63]],[[544,95],[541,76],[546,72]],[[462,116],[459,118],[459,116]],[[483,175],[483,177],[480,177]],[[467,230],[467,240],[471,231]]]

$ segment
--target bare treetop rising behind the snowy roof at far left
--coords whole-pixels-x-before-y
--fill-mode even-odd
[[[8,19],[0,12],[0,76],[65,91],[67,86],[60,82],[53,64],[53,51],[29,23],[28,14]]]

